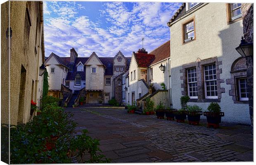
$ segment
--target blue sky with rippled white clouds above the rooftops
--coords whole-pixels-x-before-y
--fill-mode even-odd
[[[129,57],[144,48],[150,52],[170,40],[167,22],[182,5],[172,2],[44,1],[45,56],[53,52],[78,57]]]

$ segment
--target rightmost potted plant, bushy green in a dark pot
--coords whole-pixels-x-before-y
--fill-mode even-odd
[[[208,112],[204,112],[204,116],[206,116],[208,127],[219,128],[221,117],[224,116],[224,112],[220,111],[220,105],[217,102],[211,102],[207,109]]]

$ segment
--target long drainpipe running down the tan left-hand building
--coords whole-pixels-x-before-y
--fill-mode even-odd
[[[37,100],[37,93],[38,93],[38,83],[39,83],[39,61],[40,61],[40,54],[41,54],[41,44],[42,44],[42,31],[43,31],[43,2],[39,2],[39,10],[40,10],[40,35],[39,35],[39,44],[38,44],[38,55],[37,55],[37,62],[36,62],[36,93],[35,98]]]

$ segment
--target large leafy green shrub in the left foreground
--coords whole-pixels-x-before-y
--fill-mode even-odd
[[[98,147],[99,141],[86,135],[76,135],[76,123],[72,114],[64,112],[56,103],[48,104],[45,110],[32,121],[12,125],[10,128],[10,163],[108,163]],[[29,148],[28,148],[29,147]],[[67,154],[69,153],[69,154]],[[82,159],[84,155],[88,159]]]

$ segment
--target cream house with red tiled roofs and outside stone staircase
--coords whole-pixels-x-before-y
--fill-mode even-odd
[[[126,75],[126,104],[136,102],[138,109],[142,110],[145,100],[150,98],[155,106],[160,101],[166,107],[171,106],[169,82],[170,41],[162,44],[150,53],[144,48],[133,52],[129,74]],[[160,66],[165,70],[161,71]],[[128,80],[128,81],[127,81]],[[129,83],[129,84],[127,84]],[[164,86],[162,88],[162,86]],[[141,111],[140,111],[141,112]]]

